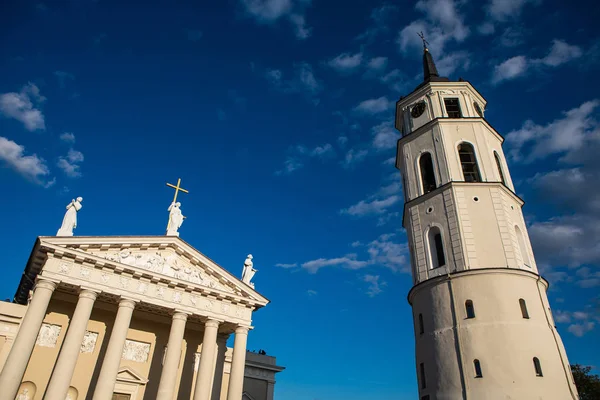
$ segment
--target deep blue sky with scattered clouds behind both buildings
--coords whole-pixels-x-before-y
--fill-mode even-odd
[[[572,363],[598,366],[600,8],[551,0],[8,1],[0,15],[3,279],[83,196],[76,235],[181,237],[241,274],[250,349],[286,399],[416,396],[393,105],[438,69],[506,137]]]

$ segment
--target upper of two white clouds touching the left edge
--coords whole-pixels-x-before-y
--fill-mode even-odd
[[[44,130],[46,124],[42,111],[37,105],[46,100],[33,83],[23,86],[19,93],[10,92],[0,95],[0,113],[7,118],[14,118],[25,125],[29,131]]]

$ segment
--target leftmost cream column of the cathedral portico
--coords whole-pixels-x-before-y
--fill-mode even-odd
[[[56,283],[38,278],[31,303],[0,374],[0,400],[14,400],[17,396],[54,289]]]

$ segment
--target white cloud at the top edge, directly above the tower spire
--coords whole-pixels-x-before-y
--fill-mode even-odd
[[[453,40],[462,42],[469,36],[463,17],[454,0],[420,0],[415,8],[425,14],[424,20],[416,20],[404,27],[398,34],[397,42],[402,52],[421,49],[423,43],[417,33],[423,32],[430,50],[443,54],[446,43]]]

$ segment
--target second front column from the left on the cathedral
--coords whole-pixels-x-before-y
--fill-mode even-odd
[[[79,351],[81,350],[81,342],[97,296],[97,292],[89,289],[82,289],[79,292],[79,300],[54,365],[54,371],[48,383],[44,400],[64,400],[67,397]]]

